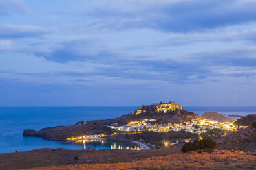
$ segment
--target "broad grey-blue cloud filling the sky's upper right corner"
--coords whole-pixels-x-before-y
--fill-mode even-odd
[[[99,19],[93,23],[94,29],[149,28],[162,32],[198,32],[256,21],[255,1],[155,1],[149,5],[137,4],[140,8],[136,10],[129,10],[134,9],[131,8],[136,5],[134,1],[115,2],[101,6],[91,4],[87,12],[92,19]],[[113,3],[120,4],[120,8]]]

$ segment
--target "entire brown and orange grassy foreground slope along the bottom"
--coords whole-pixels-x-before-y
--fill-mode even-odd
[[[142,151],[36,149],[0,154],[0,169],[254,169],[256,152],[182,154],[180,145]]]

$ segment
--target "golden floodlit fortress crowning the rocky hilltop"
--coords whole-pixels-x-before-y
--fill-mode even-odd
[[[183,110],[181,104],[171,102],[169,101],[168,103],[162,103],[160,104],[152,104],[152,105],[143,105],[140,109],[135,110],[134,114],[139,115],[142,113],[167,113],[167,112],[173,112],[175,110]]]

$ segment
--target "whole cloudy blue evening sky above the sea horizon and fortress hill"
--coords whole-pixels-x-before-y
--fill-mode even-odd
[[[0,0],[0,106],[256,106],[256,0]]]

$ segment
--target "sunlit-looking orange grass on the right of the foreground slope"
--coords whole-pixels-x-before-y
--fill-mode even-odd
[[[215,151],[211,154],[173,154],[114,164],[81,164],[36,169],[255,169],[255,167],[255,153]]]

